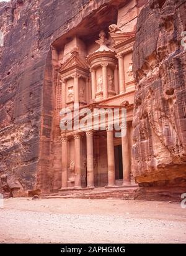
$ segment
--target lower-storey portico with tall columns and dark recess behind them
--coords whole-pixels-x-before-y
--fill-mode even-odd
[[[130,186],[131,130],[115,138],[114,130],[88,130],[61,136],[61,189]]]

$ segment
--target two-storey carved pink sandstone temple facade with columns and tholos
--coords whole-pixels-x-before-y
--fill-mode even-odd
[[[55,141],[58,149],[53,166],[58,173],[61,171],[61,190],[130,186],[135,182],[131,175],[135,93],[132,53],[139,8],[135,1],[128,5],[118,9],[117,24],[100,24],[100,30],[98,28],[92,38],[87,27],[86,35],[82,36],[81,29],[77,30],[60,51],[53,46],[53,54],[58,55],[60,64],[56,69],[55,129],[58,136]],[[128,15],[126,10],[130,6],[133,12]],[[125,108],[126,135],[117,138],[115,131],[108,128],[60,130],[60,110],[74,110],[74,104],[79,110]]]

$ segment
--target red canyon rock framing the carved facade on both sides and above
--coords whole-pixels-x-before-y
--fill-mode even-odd
[[[123,0],[11,0],[0,3],[0,192],[26,196],[60,188],[55,101],[60,47],[79,31],[117,24]],[[134,2],[134,1],[133,1]],[[141,6],[146,1],[136,1]],[[132,172],[141,186],[185,184],[186,1],[150,0],[139,14],[133,52],[136,80]],[[134,8],[120,20],[133,17]],[[125,14],[125,15],[124,15]],[[136,19],[133,19],[136,25]],[[131,24],[129,24],[131,26]],[[68,36],[66,36],[68,33]],[[59,96],[60,97],[60,96]],[[124,101],[125,99],[123,99]],[[36,191],[37,190],[37,191]]]

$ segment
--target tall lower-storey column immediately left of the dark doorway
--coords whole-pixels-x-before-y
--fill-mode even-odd
[[[115,185],[113,130],[107,129],[108,186]]]

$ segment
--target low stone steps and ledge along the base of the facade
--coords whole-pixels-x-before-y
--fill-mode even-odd
[[[180,202],[185,187],[138,187],[129,186],[95,187],[94,189],[66,189],[56,193],[42,194],[40,198],[79,199],[125,199]]]

